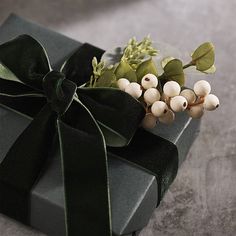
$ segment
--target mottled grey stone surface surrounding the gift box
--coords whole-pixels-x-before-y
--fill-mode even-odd
[[[236,1],[1,0],[0,22],[10,12],[105,49],[148,33],[183,52],[213,41],[218,71],[210,80],[221,107],[204,116],[199,138],[141,236],[236,235]],[[0,235],[42,234],[0,216]]]

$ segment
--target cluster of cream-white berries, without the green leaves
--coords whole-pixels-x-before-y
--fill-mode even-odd
[[[146,109],[146,116],[142,122],[144,128],[154,128],[158,121],[171,124],[175,120],[175,113],[185,110],[190,117],[200,118],[204,110],[213,111],[220,104],[217,96],[210,94],[211,86],[205,80],[196,82],[193,90],[183,88],[182,91],[177,82],[169,81],[165,83],[161,94],[157,89],[158,79],[154,76],[147,74],[142,79],[141,86],[138,83],[130,83],[124,90],[136,99],[143,97]],[[150,81],[146,78],[150,78]]]

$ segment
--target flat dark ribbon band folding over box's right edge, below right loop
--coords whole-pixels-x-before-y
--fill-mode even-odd
[[[166,190],[177,175],[179,162],[177,147],[166,139],[144,129],[138,129],[127,147],[109,148],[108,152],[136,164],[156,176],[157,205],[159,205]]]

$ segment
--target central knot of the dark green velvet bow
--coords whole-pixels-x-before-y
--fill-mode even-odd
[[[43,89],[52,109],[62,115],[72,103],[77,87],[75,83],[65,79],[63,73],[50,71],[43,78]]]

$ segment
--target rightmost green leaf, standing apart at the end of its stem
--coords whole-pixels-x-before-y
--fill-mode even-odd
[[[214,45],[210,42],[200,45],[192,55],[192,61],[197,70],[206,71],[210,69],[215,62]]]

